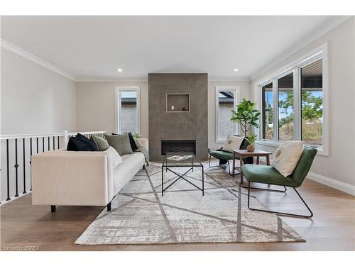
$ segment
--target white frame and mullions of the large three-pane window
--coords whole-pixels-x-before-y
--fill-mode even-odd
[[[261,119],[259,121],[260,128],[256,131],[258,135],[258,140],[256,143],[261,145],[269,145],[278,147],[282,140],[278,140],[278,79],[284,77],[287,74],[293,72],[293,94],[294,94],[294,102],[293,102],[293,110],[294,110],[294,140],[301,139],[301,82],[300,82],[300,69],[307,65],[310,65],[312,62],[315,62],[322,58],[322,92],[323,92],[323,145],[322,146],[313,146],[313,145],[305,145],[307,147],[314,147],[318,150],[318,155],[329,155],[329,135],[328,135],[328,125],[329,125],[329,92],[328,92],[328,54],[327,54],[327,43],[321,45],[319,48],[308,52],[303,57],[298,58],[297,60],[291,62],[286,65],[282,69],[274,72],[273,74],[266,77],[266,79],[262,79],[255,83],[255,94],[256,102],[258,109],[262,109],[262,87],[266,84],[273,82],[273,140],[263,140],[263,114],[261,112]]]

